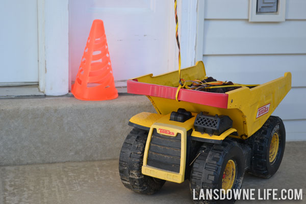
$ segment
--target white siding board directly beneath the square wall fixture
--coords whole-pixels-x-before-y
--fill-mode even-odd
[[[204,32],[204,55],[306,53],[306,20],[205,20]]]

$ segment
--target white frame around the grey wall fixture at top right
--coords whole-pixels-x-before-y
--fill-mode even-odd
[[[257,0],[250,0],[249,22],[284,22],[286,17],[286,0],[278,0],[277,12],[256,14]]]

